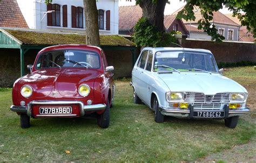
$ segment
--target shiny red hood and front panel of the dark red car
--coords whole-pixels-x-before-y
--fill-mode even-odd
[[[21,87],[24,85],[29,85],[33,89],[33,99],[44,97],[81,97],[77,91],[80,84],[85,83],[93,90],[93,83],[99,74],[95,69],[62,68],[37,70],[22,77],[18,84],[18,90],[21,90]],[[87,97],[93,97],[93,91]],[[23,98],[21,94],[19,98]]]

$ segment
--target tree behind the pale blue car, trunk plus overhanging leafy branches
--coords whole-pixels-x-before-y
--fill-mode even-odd
[[[184,0],[187,2],[184,9],[178,13],[178,18],[185,20],[195,20],[193,7],[196,5],[200,8],[202,18],[198,20],[198,29],[203,29],[212,40],[221,41],[225,38],[218,34],[215,25],[211,24],[213,19],[213,11],[218,11],[225,5],[229,10],[233,11],[233,16],[238,16],[241,24],[247,26],[254,37],[256,37],[256,1],[255,0]],[[149,30],[146,27],[146,33],[141,33],[141,30],[134,29],[134,42],[137,46],[142,46],[142,40],[146,40],[144,46],[162,46],[159,42],[164,41],[164,37],[159,37],[159,33],[164,35],[164,9],[167,0],[138,0],[137,4],[143,9],[143,17],[147,18],[148,25],[154,26],[154,30]],[[244,15],[241,12],[245,12]],[[141,23],[141,22],[140,22]],[[150,27],[152,29],[152,27]],[[158,32],[156,32],[156,29]],[[150,31],[153,31],[151,33]],[[139,32],[139,33],[136,33]],[[154,40],[158,38],[160,40]]]

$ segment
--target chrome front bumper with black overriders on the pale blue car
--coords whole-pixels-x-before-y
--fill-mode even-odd
[[[190,104],[187,110],[182,110],[182,109],[163,109],[160,107],[160,111],[163,115],[166,116],[173,116],[173,117],[184,117],[184,118],[194,118],[193,117],[193,111],[224,111],[225,116],[223,118],[228,118],[228,117],[233,117],[233,116],[240,116],[242,114],[247,113],[250,111],[249,108],[242,108],[242,109],[236,109],[236,110],[231,110],[228,109],[228,105],[225,105],[223,110],[194,110],[193,105]],[[196,117],[196,118],[215,118],[215,117]]]

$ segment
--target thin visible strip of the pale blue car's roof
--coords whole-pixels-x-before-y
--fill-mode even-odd
[[[199,49],[199,48],[182,48],[182,47],[145,47],[143,50],[151,50],[153,53],[159,51],[192,51],[192,52],[205,52],[211,53],[211,51],[206,49]]]

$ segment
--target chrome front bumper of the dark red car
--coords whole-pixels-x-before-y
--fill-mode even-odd
[[[106,108],[106,104],[92,104],[92,105],[84,105],[81,101],[31,101],[26,106],[17,106],[17,105],[11,105],[10,109],[14,112],[21,112],[29,117],[31,116],[32,112],[32,105],[79,105],[80,109],[80,116],[84,116],[86,111],[100,111],[104,110]],[[40,117],[40,115],[36,115]],[[45,116],[53,116],[53,115],[44,115]],[[70,114],[70,115],[54,115],[55,117],[72,117],[77,116],[76,114]]]

